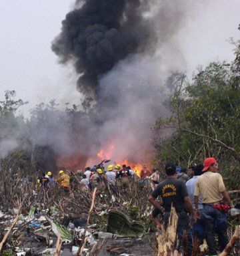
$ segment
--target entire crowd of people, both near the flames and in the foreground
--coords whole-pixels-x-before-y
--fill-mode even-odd
[[[149,202],[154,206],[151,216],[157,227],[167,227],[173,206],[178,215],[179,251],[183,251],[185,231],[187,255],[192,254],[193,242],[202,243],[203,239],[207,241],[209,255],[217,255],[215,232],[217,231],[219,249],[222,251],[228,243],[226,213],[233,207],[223,178],[217,170],[215,158],[206,158],[203,164],[191,166],[188,170],[179,168],[177,164],[168,163],[165,165],[167,178],[159,183],[159,169],[150,171],[147,164],[143,164],[142,170],[125,164],[110,164],[107,170],[103,165],[86,167],[78,182],[87,190],[101,190],[105,184],[109,184],[115,194],[128,188],[130,180],[143,185],[151,182],[155,190],[150,195]],[[67,174],[60,170],[59,178],[54,179],[53,174],[47,172],[38,178],[38,182],[46,189],[57,183],[68,192],[74,179],[73,172]]]

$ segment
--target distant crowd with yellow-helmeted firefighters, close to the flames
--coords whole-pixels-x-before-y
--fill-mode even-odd
[[[176,164],[177,166],[177,164]],[[185,168],[176,167],[177,177],[182,180],[188,180],[188,174],[185,174]],[[186,177],[187,176],[187,177]],[[126,164],[110,164],[105,170],[102,164],[86,167],[85,172],[77,172],[75,174],[69,170],[59,170],[59,178],[54,179],[51,172],[43,172],[41,176],[37,178],[37,183],[46,190],[59,185],[66,192],[70,188],[74,188],[76,183],[83,184],[87,189],[93,190],[97,187],[97,190],[101,191],[105,187],[105,181],[108,182],[111,189],[123,190],[129,188],[130,180],[139,182],[140,184],[147,184],[152,182],[153,186],[157,187],[159,184],[159,169],[149,170],[147,164],[143,164],[143,168],[139,169],[135,165],[126,166]]]

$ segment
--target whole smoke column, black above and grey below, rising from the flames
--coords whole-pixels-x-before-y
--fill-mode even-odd
[[[85,144],[89,156],[109,142],[114,160],[143,162],[151,155],[151,126],[169,114],[165,80],[183,63],[175,39],[183,3],[85,0],[66,15],[52,49],[61,63],[73,63],[79,91],[97,103],[101,125],[89,125],[94,132],[84,136],[95,139]]]

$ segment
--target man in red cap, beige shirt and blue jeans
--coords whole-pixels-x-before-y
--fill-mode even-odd
[[[227,215],[224,211],[217,209],[217,206],[223,199],[231,207],[233,207],[233,203],[227,193],[221,174],[217,173],[218,164],[215,158],[206,158],[203,166],[204,173],[195,182],[195,209],[197,217],[200,217],[198,202],[199,195],[201,195],[209,255],[217,255],[215,248],[215,229],[218,231],[221,251],[223,251],[228,243]]]

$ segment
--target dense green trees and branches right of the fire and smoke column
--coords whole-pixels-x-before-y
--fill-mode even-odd
[[[191,166],[205,157],[219,160],[231,188],[239,186],[240,43],[232,63],[212,62],[191,82],[183,74],[169,78],[174,88],[171,116],[158,118],[153,130],[157,157]],[[170,136],[163,136],[166,131]]]

